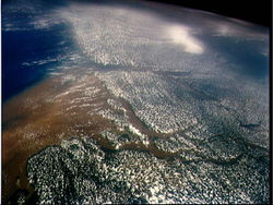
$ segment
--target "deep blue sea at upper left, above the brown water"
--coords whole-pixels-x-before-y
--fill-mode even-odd
[[[32,24],[43,14],[2,7],[2,101],[44,80],[73,49],[69,25]]]

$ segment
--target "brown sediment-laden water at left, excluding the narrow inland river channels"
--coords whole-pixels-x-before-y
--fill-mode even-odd
[[[98,107],[71,107],[70,101],[81,97],[82,91],[69,93],[73,83],[61,83],[60,76],[45,80],[39,85],[13,97],[3,105],[2,130],[2,203],[19,189],[33,193],[26,178],[26,161],[38,150],[60,144],[64,138],[88,135],[97,137],[103,130],[114,126],[108,120],[97,114],[90,114]],[[94,76],[87,76],[86,85],[97,91],[90,97],[90,105],[104,102],[107,93],[100,82]],[[74,85],[73,86],[79,86]],[[59,94],[68,92],[68,95]],[[100,138],[100,143],[105,143]]]

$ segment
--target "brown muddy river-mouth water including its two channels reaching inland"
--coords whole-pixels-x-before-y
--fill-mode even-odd
[[[75,73],[76,72],[76,73]],[[94,73],[79,74],[80,70],[52,76],[13,97],[3,105],[2,121],[2,202],[7,203],[17,190],[26,190],[27,198],[33,194],[26,177],[26,162],[37,152],[62,140],[90,136],[99,146],[115,149],[111,142],[99,133],[117,131],[117,126],[97,114],[112,109],[108,98],[115,98],[127,110],[128,121],[147,136],[165,137],[146,128],[134,114],[129,102],[112,96]],[[156,157],[171,157],[154,143],[143,145],[130,142],[121,149],[146,150]]]

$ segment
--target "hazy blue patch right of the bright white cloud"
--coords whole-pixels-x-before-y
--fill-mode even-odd
[[[235,40],[234,37],[222,36],[214,37],[210,45],[225,56],[233,72],[257,81],[269,76],[269,56],[262,51],[266,44],[265,40]]]

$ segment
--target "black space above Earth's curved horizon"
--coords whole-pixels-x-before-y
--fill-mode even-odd
[[[271,26],[272,0],[146,0],[204,10]]]

